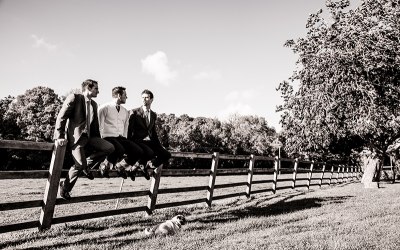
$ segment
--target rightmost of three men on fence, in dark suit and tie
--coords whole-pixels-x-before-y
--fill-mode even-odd
[[[156,131],[157,114],[150,107],[153,102],[153,93],[145,89],[142,92],[143,105],[133,109],[129,117],[128,139],[136,142],[143,149],[141,164],[145,166],[144,175],[148,179],[146,168],[157,168],[171,158],[168,152],[160,143]],[[152,160],[152,164],[146,162]]]

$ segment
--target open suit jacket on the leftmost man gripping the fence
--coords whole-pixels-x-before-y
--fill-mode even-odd
[[[90,124],[90,137],[100,137],[97,103],[90,101],[93,107],[93,121]],[[68,139],[70,146],[75,145],[86,129],[86,102],[82,94],[70,94],[58,113],[54,139]],[[67,137],[65,137],[67,134]]]

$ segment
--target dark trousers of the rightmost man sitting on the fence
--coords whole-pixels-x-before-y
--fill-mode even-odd
[[[140,163],[144,166],[146,166],[147,161],[152,160],[154,167],[158,167],[171,158],[171,153],[159,143],[152,141],[136,141],[136,143],[143,149],[143,157]]]

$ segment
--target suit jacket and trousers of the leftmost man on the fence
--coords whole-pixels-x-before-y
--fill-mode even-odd
[[[64,182],[64,189],[70,192],[83,169],[103,161],[114,151],[114,146],[100,138],[97,103],[91,100],[93,121],[90,124],[90,135],[86,131],[86,101],[82,94],[71,94],[65,99],[58,113],[54,139],[68,139],[74,158],[74,166],[69,170]],[[86,154],[90,154],[86,158]]]

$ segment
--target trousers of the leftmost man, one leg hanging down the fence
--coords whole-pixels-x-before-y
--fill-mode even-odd
[[[71,192],[78,176],[84,169],[90,169],[96,163],[104,161],[107,155],[114,151],[114,146],[100,137],[89,138],[82,134],[78,142],[71,147],[72,158],[75,164],[69,169],[64,181],[64,190]],[[87,157],[87,155],[89,155]]]

